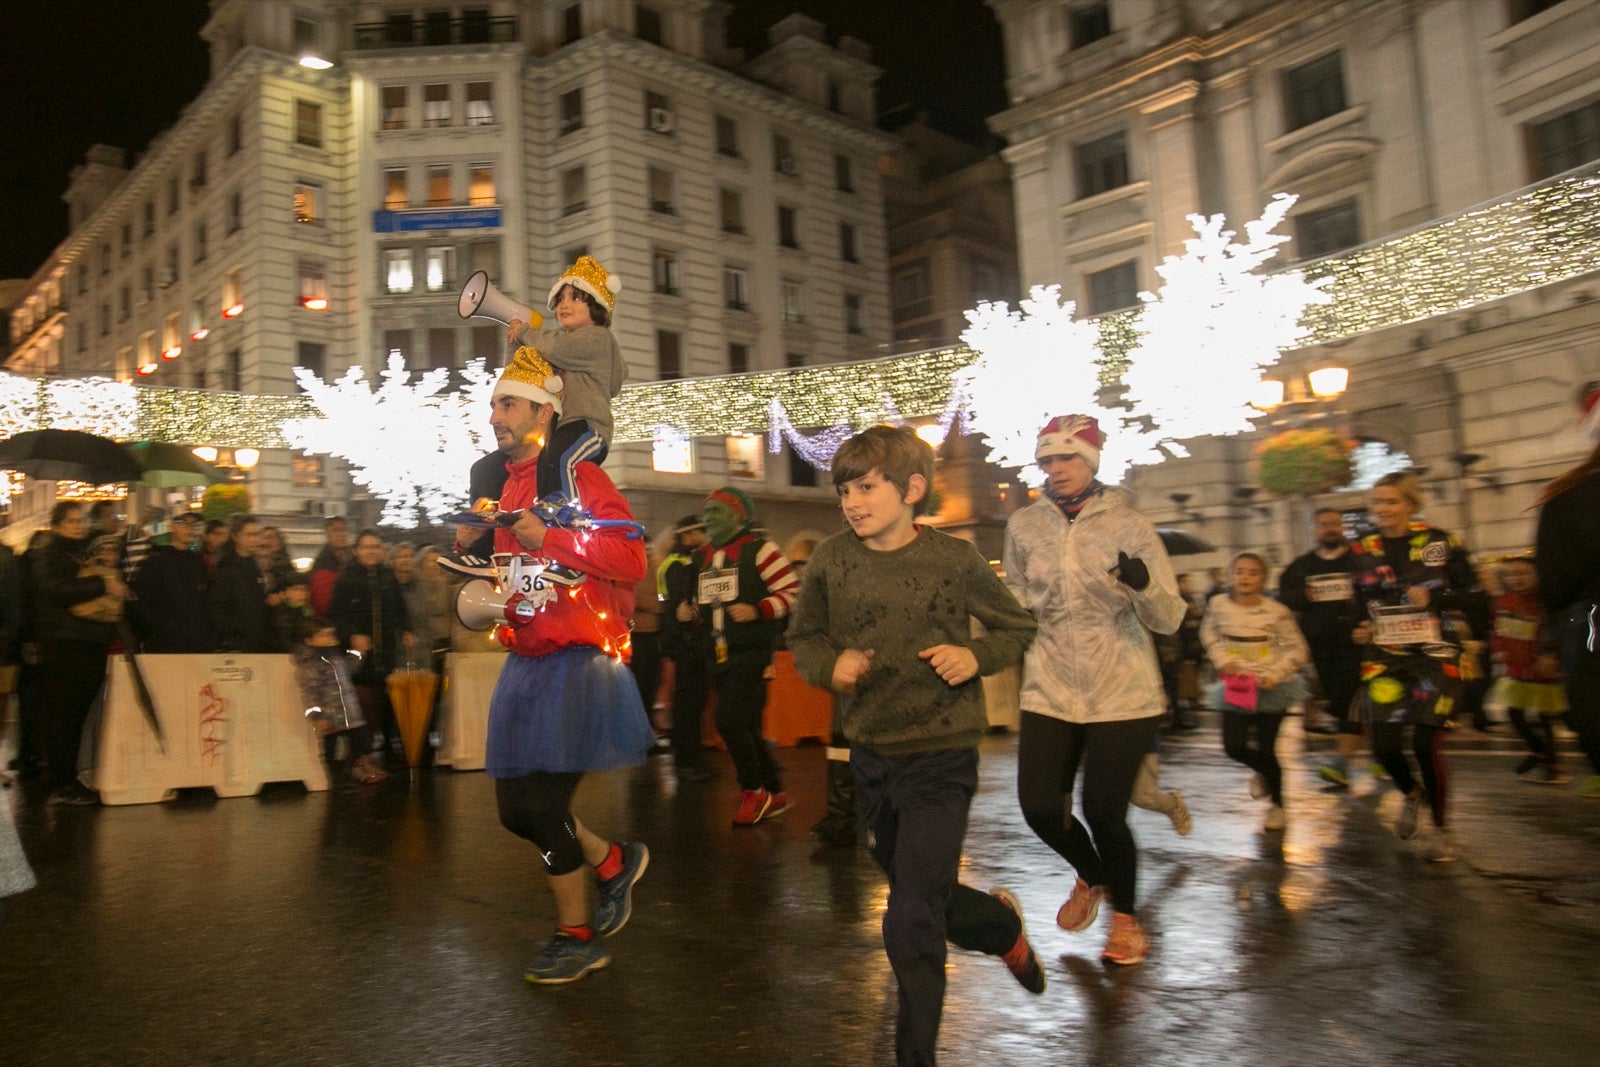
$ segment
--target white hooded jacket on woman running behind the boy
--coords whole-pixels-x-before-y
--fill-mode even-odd
[[[1144,561],[1133,592],[1110,574],[1117,552]],[[1166,709],[1150,630],[1173,633],[1187,605],[1162,539],[1120,490],[1067,517],[1046,498],[1011,515],[1005,584],[1038,619],[1022,661],[1022,710],[1069,723],[1150,718]]]

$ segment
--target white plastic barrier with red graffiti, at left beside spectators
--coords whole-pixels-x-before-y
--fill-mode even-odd
[[[114,657],[93,771],[104,803],[171,800],[190,785],[218,797],[250,797],[266,782],[328,789],[288,656],[139,656],[139,669],[166,749],[139,709],[128,664]]]

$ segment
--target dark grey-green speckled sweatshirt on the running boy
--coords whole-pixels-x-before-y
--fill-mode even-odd
[[[971,619],[984,624],[971,635]],[[838,720],[853,744],[886,755],[976,745],[989,729],[978,677],[947,685],[917,653],[962,645],[978,675],[1002,670],[1034,640],[1034,622],[971,542],[928,526],[893,552],[850,530],[816,547],[784,640],[811,685],[832,688],[845,649],[872,649],[872,667],[840,694]]]

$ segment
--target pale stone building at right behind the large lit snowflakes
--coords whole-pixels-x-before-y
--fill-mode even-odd
[[[1389,285],[1426,309],[1288,354],[1294,398],[1306,371],[1349,368],[1336,405],[1286,405],[1246,438],[1136,469],[1130,485],[1158,523],[1286,558],[1309,539],[1290,522],[1304,509],[1253,491],[1251,448],[1275,419],[1320,418],[1421,469],[1427,515],[1480,553],[1531,544],[1538,488],[1581,454],[1574,389],[1600,378],[1600,258],[1549,274],[1538,245],[1558,243],[1560,227],[1482,256],[1451,234],[1480,205],[1568,173],[1576,184],[1525,198],[1594,218],[1570,190],[1589,187],[1600,158],[1600,3],[989,5],[1010,98],[990,125],[1008,142],[1024,290],[1058,283],[1091,314],[1134,307],[1192,234],[1186,216],[1242,226],[1290,192],[1288,262],[1402,250]],[[1493,266],[1504,285],[1482,291],[1469,266]],[[1434,299],[1445,290],[1450,301]],[[1354,510],[1360,496],[1317,502]]]

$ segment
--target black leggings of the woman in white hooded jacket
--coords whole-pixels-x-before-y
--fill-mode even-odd
[[[1128,829],[1128,797],[1139,763],[1155,744],[1160,717],[1067,723],[1022,712],[1016,792],[1022,817],[1045,845],[1110,904],[1134,913],[1139,853]],[[1083,822],[1072,814],[1072,787],[1083,765]]]

